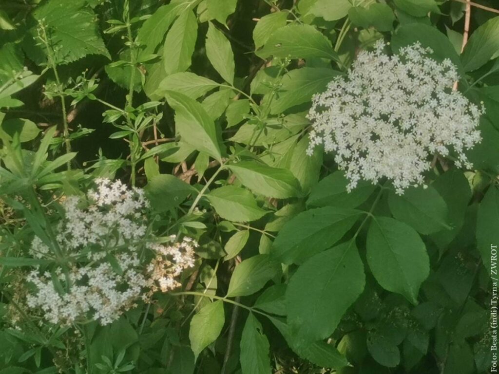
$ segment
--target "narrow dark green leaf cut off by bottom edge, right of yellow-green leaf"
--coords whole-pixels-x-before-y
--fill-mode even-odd
[[[248,315],[241,336],[241,370],[243,374],[270,374],[270,346],[261,324],[253,313]]]

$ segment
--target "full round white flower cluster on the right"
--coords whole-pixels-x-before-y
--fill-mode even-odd
[[[458,167],[471,168],[464,152],[481,141],[476,128],[484,110],[452,90],[456,67],[428,57],[433,51],[419,43],[394,56],[384,48],[380,41],[361,52],[347,77],[313,97],[308,153],[321,144],[334,152],[349,190],[361,179],[386,177],[401,194],[424,185],[433,155],[451,151]]]

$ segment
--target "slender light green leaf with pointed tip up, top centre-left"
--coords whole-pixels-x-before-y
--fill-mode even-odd
[[[206,55],[220,76],[233,84],[235,67],[231,42],[212,22],[209,22],[206,34]]]

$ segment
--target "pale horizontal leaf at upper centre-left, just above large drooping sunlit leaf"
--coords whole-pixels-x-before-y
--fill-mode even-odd
[[[186,71],[168,75],[159,84],[156,94],[164,96],[168,91],[175,91],[197,99],[219,86],[220,84],[211,79]]]

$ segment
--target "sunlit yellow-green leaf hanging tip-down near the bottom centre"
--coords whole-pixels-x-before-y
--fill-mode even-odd
[[[225,323],[224,302],[222,300],[207,304],[191,320],[189,340],[195,360],[210,344],[215,342]]]

